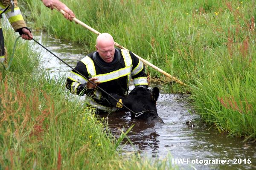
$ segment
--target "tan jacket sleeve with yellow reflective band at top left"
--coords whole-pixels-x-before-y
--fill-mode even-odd
[[[10,0],[0,0],[0,12],[9,5]],[[7,19],[12,25],[12,28],[17,32],[17,29],[26,27],[26,23],[20,12],[20,8],[17,6],[17,0],[14,0],[14,12],[11,11],[12,5],[5,12]]]

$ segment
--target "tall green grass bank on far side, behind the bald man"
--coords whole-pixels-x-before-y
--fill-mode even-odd
[[[40,1],[25,2],[35,28],[94,50],[95,34]],[[167,83],[172,92],[190,91],[197,112],[220,132],[256,139],[255,1],[63,2],[79,20],[189,84],[184,89]]]

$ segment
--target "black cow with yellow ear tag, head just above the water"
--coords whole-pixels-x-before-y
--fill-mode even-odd
[[[125,106],[136,113],[136,115],[131,113],[131,117],[143,119],[147,124],[155,122],[163,123],[163,120],[157,115],[156,102],[159,96],[159,89],[157,87],[154,87],[152,91],[144,87],[135,87],[127,97],[117,94],[111,95],[119,101],[121,99]],[[120,105],[111,97],[109,97],[109,101],[114,107]]]

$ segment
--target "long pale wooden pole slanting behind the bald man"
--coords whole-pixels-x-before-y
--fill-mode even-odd
[[[63,15],[66,14],[65,11],[63,11],[62,9],[58,10],[57,8],[55,8],[57,11],[60,11]],[[92,27],[86,25],[85,23],[81,22],[80,20],[78,20],[76,17],[73,18],[73,21],[75,21],[76,23],[79,23],[81,26],[83,26],[84,28],[87,28],[88,30],[92,31],[93,33],[99,35],[101,34],[99,31],[96,31],[95,29],[93,29]],[[122,45],[119,45],[118,43],[114,42],[115,45],[121,49],[124,50],[128,50],[127,48],[123,47]],[[134,53],[133,53],[134,54]],[[157,66],[151,64],[150,62],[148,62],[147,60],[143,59],[142,57],[138,56],[137,54],[134,54],[138,59],[140,59],[143,63],[145,63],[146,65],[149,65],[150,67],[154,68],[155,70],[159,71],[160,73],[166,75],[167,77],[171,78],[172,80],[174,80],[175,82],[179,83],[180,85],[184,85],[184,86],[188,86],[187,84],[185,84],[184,82],[178,80],[177,78],[175,78],[174,76],[166,73],[165,71],[163,71],[162,69],[158,68]]]

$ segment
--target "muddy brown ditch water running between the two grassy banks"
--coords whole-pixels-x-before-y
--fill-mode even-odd
[[[35,33],[34,33],[35,34]],[[39,40],[49,50],[71,66],[84,57],[82,47],[69,42],[55,40],[53,37],[37,33]],[[35,45],[37,50],[42,49]],[[58,59],[44,49],[41,67],[50,71],[51,75],[66,75],[67,68]],[[206,125],[200,116],[194,113],[193,108],[186,102],[186,95],[166,94],[163,87],[157,100],[157,112],[165,122],[164,125],[149,127],[145,122],[131,119],[128,112],[101,114],[108,117],[109,127],[115,136],[120,135],[123,127],[127,130],[134,124],[128,137],[133,144],[122,144],[120,147],[124,155],[139,152],[141,156],[152,159],[166,159],[170,157],[170,164],[181,169],[256,169],[256,144],[244,143],[241,138],[227,137],[220,134],[214,127]],[[134,88],[130,87],[130,90]],[[191,120],[195,127],[189,128],[186,121]],[[127,140],[125,142],[128,142]],[[187,162],[180,162],[184,159]],[[198,161],[197,161],[198,159]],[[215,159],[215,164],[207,163],[207,159]],[[230,164],[221,164],[220,160],[230,159]],[[197,163],[198,162],[198,163]],[[249,164],[250,163],[250,164]]]

